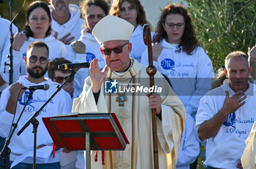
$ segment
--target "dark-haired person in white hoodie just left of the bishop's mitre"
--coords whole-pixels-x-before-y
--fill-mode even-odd
[[[78,42],[73,44],[73,49],[78,52],[78,50],[76,50],[77,46],[80,46],[80,42],[82,42],[85,44],[86,50],[84,51],[85,55],[77,55],[74,62],[91,62],[94,58],[97,58],[99,68],[102,69],[105,67],[105,60],[102,56],[102,52],[99,50],[100,46],[94,36],[92,36],[91,31],[99,20],[108,15],[109,8],[108,3],[104,0],[83,0],[81,2],[80,9],[86,25],[82,30],[82,36],[80,36]],[[81,68],[75,74],[75,93],[82,92],[84,79],[86,79],[87,76],[89,76],[88,68]]]

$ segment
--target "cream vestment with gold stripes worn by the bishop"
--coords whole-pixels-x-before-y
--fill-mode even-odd
[[[106,80],[128,82],[128,87],[136,84],[149,87],[146,67],[137,60],[131,59],[131,61],[132,66],[124,74],[109,69]],[[154,78],[155,85],[162,87],[162,93],[159,94],[162,98],[162,120],[157,118],[159,168],[175,168],[186,110],[164,77],[157,73]],[[145,81],[148,81],[147,84]],[[91,151],[91,168],[154,168],[151,109],[148,106],[146,93],[127,92],[124,106],[118,106],[117,94],[106,94],[104,87],[103,82],[96,103],[91,90],[91,79],[86,78],[83,92],[74,100],[72,111],[114,112],[127,135],[129,144],[124,151],[105,151],[105,165],[102,165],[102,153],[98,152],[98,161],[94,162],[94,151]]]

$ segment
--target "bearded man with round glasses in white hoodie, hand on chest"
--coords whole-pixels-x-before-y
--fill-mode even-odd
[[[1,95],[0,101],[0,135],[7,137],[12,125],[12,119],[16,123],[28,99],[31,90],[23,90],[22,87],[48,84],[49,89],[35,90],[24,109],[18,127],[10,140],[10,162],[13,168],[32,168],[33,166],[33,141],[32,125],[17,135],[18,130],[48,101],[56,91],[58,83],[44,77],[48,67],[48,46],[43,42],[33,42],[29,45],[27,56],[24,58],[28,75],[20,76],[18,82],[7,87]],[[18,95],[19,91],[20,95]],[[18,101],[17,101],[18,98]],[[61,98],[61,99],[59,99]],[[51,117],[56,114],[71,112],[71,98],[64,90],[59,93],[40,111],[37,116],[39,126],[37,128],[37,168],[60,168],[60,152],[57,151],[53,158],[53,141],[42,122],[42,117]],[[46,155],[45,155],[46,154]]]

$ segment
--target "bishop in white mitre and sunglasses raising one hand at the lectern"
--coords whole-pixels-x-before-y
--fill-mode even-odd
[[[127,21],[108,15],[92,31],[107,66],[100,71],[97,59],[91,62],[89,77],[80,97],[75,98],[72,111],[114,112],[129,144],[124,151],[104,152],[104,157],[102,153],[91,152],[91,168],[102,168],[100,160],[94,161],[94,154],[105,159],[104,168],[154,168],[151,109],[157,111],[159,168],[176,165],[186,111],[165,78],[159,73],[155,75],[155,85],[162,87],[162,91],[152,95],[141,91],[121,93],[113,88],[124,82],[128,88],[149,87],[146,67],[129,57],[133,30],[134,26]]]

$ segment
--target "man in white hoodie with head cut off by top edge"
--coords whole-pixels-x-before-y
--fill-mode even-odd
[[[70,44],[81,36],[84,21],[80,18],[80,9],[70,0],[48,0],[50,3],[52,24],[55,36],[64,44]]]

